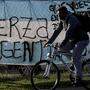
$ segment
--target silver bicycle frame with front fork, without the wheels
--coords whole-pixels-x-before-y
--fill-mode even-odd
[[[59,58],[59,61],[62,62],[62,64],[64,65],[64,67],[66,67],[67,70],[68,70],[70,73],[73,73],[73,74],[76,76],[76,72],[77,72],[77,71],[76,71],[75,65],[74,65],[74,70],[72,70],[72,69],[70,68],[70,65],[67,64],[67,63],[63,60],[63,58],[62,58],[62,56],[66,56],[66,55],[72,57],[72,54],[71,54],[71,53],[62,52],[62,51],[58,51],[58,50],[56,49],[56,47],[53,47],[53,46],[52,46],[52,44],[49,45],[49,46],[50,46],[50,52],[47,53],[47,60],[50,61],[50,64],[46,66],[44,75],[45,75],[46,77],[49,76],[50,66],[51,66],[52,63],[54,63],[55,58],[58,57],[58,58]],[[52,47],[53,47],[53,50],[52,50]],[[59,48],[58,48],[58,49],[59,49]],[[72,63],[72,64],[73,64],[73,63]]]

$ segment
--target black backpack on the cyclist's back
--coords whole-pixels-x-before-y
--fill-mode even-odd
[[[90,17],[88,15],[82,15],[82,14],[75,14],[74,15],[78,18],[82,25],[82,29],[85,32],[90,32]]]

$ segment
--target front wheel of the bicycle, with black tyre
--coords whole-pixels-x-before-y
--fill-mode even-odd
[[[31,83],[35,90],[54,90],[59,80],[57,66],[47,60],[39,61],[31,71]]]

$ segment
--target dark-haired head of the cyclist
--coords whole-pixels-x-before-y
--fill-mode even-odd
[[[59,17],[61,20],[65,20],[65,17],[67,16],[68,14],[68,10],[65,6],[62,6],[58,9],[59,11]]]

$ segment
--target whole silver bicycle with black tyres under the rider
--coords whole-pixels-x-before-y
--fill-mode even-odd
[[[60,51],[60,48],[56,45],[48,44],[50,52],[47,53],[46,60],[40,60],[37,62],[33,69],[31,70],[31,83],[35,90],[55,90],[57,85],[59,84],[61,72],[59,67],[66,67],[67,71],[70,73],[70,80],[71,75],[76,75],[76,68],[72,61],[72,53],[66,53]],[[86,54],[82,55],[84,58]],[[69,63],[67,63],[63,56],[67,56]],[[60,62],[59,65],[55,62],[55,59],[58,58]],[[90,60],[82,60],[82,67],[83,69],[88,70],[86,71],[88,75],[90,75]],[[59,66],[59,67],[58,67]],[[88,68],[88,69],[87,69]],[[86,73],[84,72],[84,73]],[[41,84],[37,84],[41,83]],[[39,86],[40,85],[40,86]],[[43,86],[44,85],[44,86]]]

